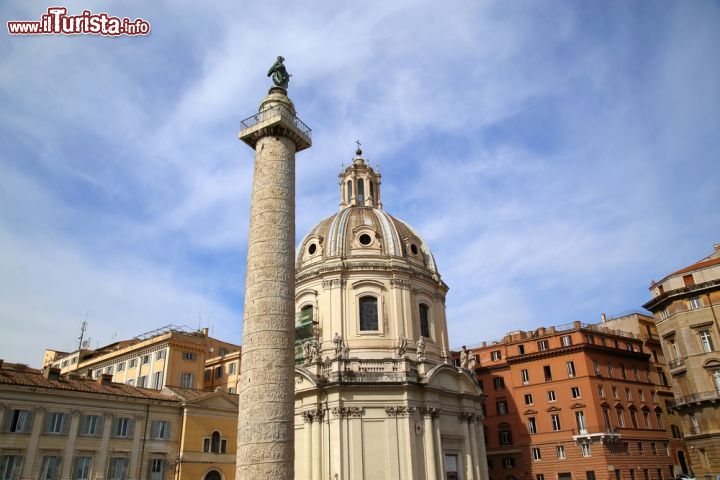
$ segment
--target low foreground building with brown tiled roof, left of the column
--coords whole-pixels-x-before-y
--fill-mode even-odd
[[[0,360],[3,480],[233,478],[237,398]]]

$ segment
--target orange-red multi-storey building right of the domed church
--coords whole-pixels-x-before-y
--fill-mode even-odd
[[[469,354],[487,395],[491,479],[664,480],[679,470],[660,405],[667,381],[638,335],[574,322]]]

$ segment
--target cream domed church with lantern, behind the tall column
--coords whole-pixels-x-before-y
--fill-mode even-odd
[[[428,245],[359,149],[340,195],[297,249],[296,478],[487,479],[482,392],[450,363]]]

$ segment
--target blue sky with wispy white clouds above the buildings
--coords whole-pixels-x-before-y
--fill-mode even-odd
[[[34,20],[50,4],[0,5]],[[53,4],[54,5],[54,4]],[[313,128],[298,239],[360,139],[430,244],[451,346],[595,322],[720,242],[717,2],[68,2],[147,37],[0,35],[0,358],[166,324],[239,342],[277,55]]]

